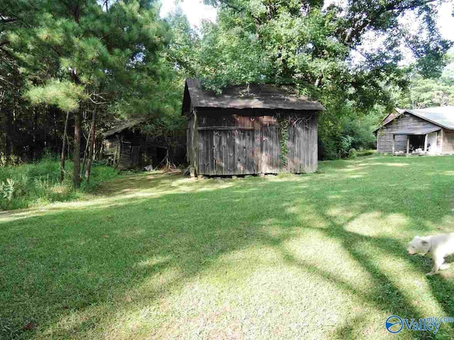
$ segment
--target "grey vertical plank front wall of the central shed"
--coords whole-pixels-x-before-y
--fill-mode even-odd
[[[306,124],[290,126],[287,167],[284,167],[276,117],[199,112],[198,126],[194,127],[194,132],[188,129],[189,134],[198,132],[198,174],[231,176],[316,171],[318,115],[299,113],[299,117],[306,118]]]

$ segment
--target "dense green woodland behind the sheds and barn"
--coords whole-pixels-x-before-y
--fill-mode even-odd
[[[177,147],[187,77],[218,93],[287,84],[319,100],[324,159],[373,147],[373,127],[395,106],[454,104],[453,42],[436,26],[443,1],[205,2],[217,21],[193,28],[182,11],[160,18],[158,1],[4,0],[0,166],[60,154],[60,179],[71,158],[78,187],[99,134],[136,118],[150,138]]]

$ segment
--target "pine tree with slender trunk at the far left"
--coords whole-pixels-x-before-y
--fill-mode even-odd
[[[5,5],[0,18],[17,24],[4,31],[2,47],[23,70],[26,97],[33,105],[74,113],[77,188],[87,111],[126,106],[134,111],[143,98],[150,100],[150,92],[156,96],[148,108],[162,105],[157,56],[168,42],[168,27],[152,1],[6,0]]]

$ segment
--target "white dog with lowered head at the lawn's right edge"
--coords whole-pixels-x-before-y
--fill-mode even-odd
[[[440,234],[426,237],[416,236],[413,241],[409,243],[410,255],[428,255],[433,259],[433,268],[430,273],[426,275],[433,275],[438,273],[438,270],[449,268],[449,265],[443,262],[445,256],[454,254],[454,232],[450,234]]]

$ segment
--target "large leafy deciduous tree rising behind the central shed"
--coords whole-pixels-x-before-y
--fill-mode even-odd
[[[219,11],[218,23],[202,29],[197,70],[203,86],[219,92],[237,84],[292,84],[327,109],[319,124],[325,144],[333,130],[341,135],[343,117],[392,109],[392,90],[409,85],[407,69],[399,66],[403,42],[424,77],[438,77],[452,45],[438,33],[435,1],[205,2]],[[400,20],[410,14],[419,22],[417,33]]]

